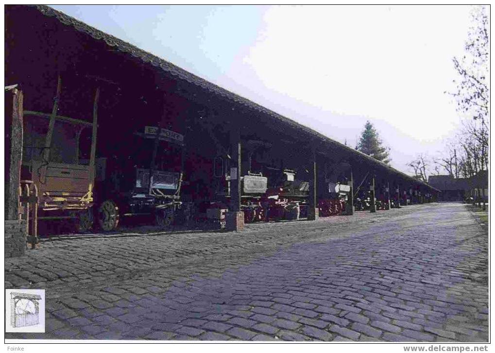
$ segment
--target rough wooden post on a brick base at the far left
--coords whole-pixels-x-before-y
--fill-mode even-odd
[[[8,180],[5,180],[5,219],[19,219],[19,183],[21,179],[21,162],[22,162],[22,91],[14,89],[12,91],[12,115],[9,134],[10,139],[10,160],[6,160],[9,173]],[[6,126],[8,128],[8,126]],[[7,166],[5,165],[5,166]]]

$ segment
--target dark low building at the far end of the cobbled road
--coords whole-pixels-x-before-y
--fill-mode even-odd
[[[439,201],[463,201],[468,197],[480,197],[488,201],[488,171],[482,170],[470,178],[454,178],[451,175],[430,175],[428,184],[439,189]]]

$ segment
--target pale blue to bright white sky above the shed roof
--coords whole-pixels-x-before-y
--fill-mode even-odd
[[[52,7],[351,147],[369,119],[409,174],[460,122],[470,6]]]

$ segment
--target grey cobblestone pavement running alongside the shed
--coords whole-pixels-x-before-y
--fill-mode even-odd
[[[66,238],[5,260],[47,297],[46,333],[6,338],[488,341],[488,234],[459,203]]]

